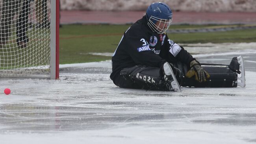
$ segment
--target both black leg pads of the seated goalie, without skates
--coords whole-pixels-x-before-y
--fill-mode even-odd
[[[194,77],[187,78],[185,76],[189,70],[185,64],[175,63],[174,67],[180,70],[174,72],[178,83],[184,87],[237,87],[237,73],[232,71],[228,65],[213,63],[201,63],[201,65],[210,74],[210,79],[199,83]],[[114,83],[121,88],[167,90],[160,68],[141,65],[124,68]]]

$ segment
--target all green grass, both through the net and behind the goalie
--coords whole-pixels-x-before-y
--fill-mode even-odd
[[[170,29],[199,29],[234,27],[236,25],[171,25]],[[240,25],[243,26],[243,25]],[[121,40],[122,34],[130,25],[63,25],[60,29],[60,63],[84,63],[111,59],[108,56],[94,56],[90,52],[113,53]],[[49,40],[46,33],[50,30],[32,29],[28,31],[28,47],[20,48],[16,45],[15,29],[9,37],[7,45],[0,47],[0,70],[4,68],[22,68],[47,65],[50,59]],[[224,43],[224,42],[255,42],[256,29],[236,30],[227,32],[207,33],[168,33],[176,43]],[[45,43],[45,41],[48,41]],[[37,60],[38,52],[44,60]],[[30,63],[32,61],[33,63]]]

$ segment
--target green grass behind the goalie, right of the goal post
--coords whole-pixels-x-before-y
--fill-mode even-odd
[[[234,25],[171,25],[170,29],[230,27]],[[82,63],[111,59],[89,52],[114,52],[130,25],[63,25],[60,29],[60,63]],[[256,41],[256,29],[227,32],[171,34],[176,43],[224,43]],[[186,47],[185,47],[186,49]]]

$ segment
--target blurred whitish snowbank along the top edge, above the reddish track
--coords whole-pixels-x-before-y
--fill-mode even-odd
[[[174,11],[256,12],[256,0],[60,0],[63,10],[146,10],[152,2],[165,2]]]

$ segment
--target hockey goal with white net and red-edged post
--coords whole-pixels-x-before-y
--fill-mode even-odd
[[[0,0],[0,77],[58,79],[59,0]]]

